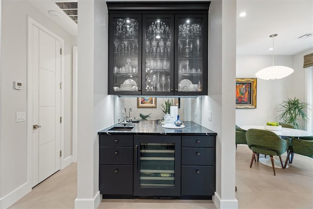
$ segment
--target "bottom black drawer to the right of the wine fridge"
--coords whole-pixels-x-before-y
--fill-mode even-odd
[[[181,195],[214,195],[214,166],[181,166]]]

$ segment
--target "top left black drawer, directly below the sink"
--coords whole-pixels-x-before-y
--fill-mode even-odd
[[[100,146],[133,146],[133,135],[100,135]]]

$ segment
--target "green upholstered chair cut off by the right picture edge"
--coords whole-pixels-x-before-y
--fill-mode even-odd
[[[289,160],[290,155],[293,155],[293,153],[313,158],[313,136],[292,139],[291,144],[292,151],[287,154],[286,162]]]

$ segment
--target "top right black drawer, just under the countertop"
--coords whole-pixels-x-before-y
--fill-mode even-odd
[[[182,147],[215,147],[215,136],[182,136]]]

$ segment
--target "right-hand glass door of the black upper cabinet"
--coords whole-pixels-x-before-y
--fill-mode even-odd
[[[187,16],[187,17],[186,17]],[[178,94],[207,92],[207,19],[201,15],[177,15],[176,82]]]

